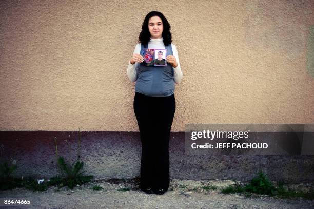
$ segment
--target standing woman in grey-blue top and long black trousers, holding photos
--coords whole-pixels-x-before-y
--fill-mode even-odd
[[[169,178],[169,137],[175,112],[174,85],[182,79],[170,24],[161,12],[149,12],[127,69],[135,82],[134,113],[141,143],[141,190],[164,194]],[[143,49],[167,49],[167,66],[144,65]]]

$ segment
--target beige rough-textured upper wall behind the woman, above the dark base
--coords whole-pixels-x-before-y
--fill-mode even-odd
[[[172,131],[314,123],[313,1],[159,2],[1,1],[0,130],[138,131],[126,69],[151,10],[184,74]]]

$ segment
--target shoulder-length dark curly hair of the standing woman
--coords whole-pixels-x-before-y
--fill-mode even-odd
[[[153,17],[153,16],[159,16],[163,22],[164,29],[163,29],[162,37],[163,37],[164,45],[167,46],[171,44],[172,42],[172,35],[170,32],[171,26],[169,22],[167,21],[166,17],[163,15],[163,13],[158,12],[158,11],[151,11],[146,15],[144,22],[142,24],[142,31],[140,33],[139,43],[146,45],[149,42],[150,32],[148,29],[148,20],[150,17]]]

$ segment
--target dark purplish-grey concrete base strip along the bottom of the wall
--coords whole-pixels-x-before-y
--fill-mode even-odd
[[[78,132],[1,131],[1,160],[16,160],[16,177],[50,178],[58,174],[59,156],[73,162]],[[80,158],[86,175],[95,178],[140,176],[139,132],[81,132]],[[247,181],[262,169],[270,180],[291,183],[314,181],[314,155],[185,155],[185,132],[171,132],[170,178]]]

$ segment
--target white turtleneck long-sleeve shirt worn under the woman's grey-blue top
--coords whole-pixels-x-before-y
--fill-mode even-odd
[[[178,50],[176,50],[176,46],[174,44],[171,44],[173,56],[176,59],[176,63],[178,63],[178,66],[172,67],[173,68],[173,80],[175,83],[179,83],[183,77],[183,73],[181,71],[180,62],[179,62],[179,55]],[[148,48],[155,48],[155,49],[165,49],[165,45],[163,42],[163,38],[161,39],[150,39],[148,42]],[[136,44],[135,49],[133,51],[133,54],[140,54],[141,52],[141,43]],[[135,62],[135,64],[131,64],[129,61],[129,66],[127,69],[128,78],[131,82],[135,82],[137,78],[136,74],[136,67],[139,65],[138,62]]]

